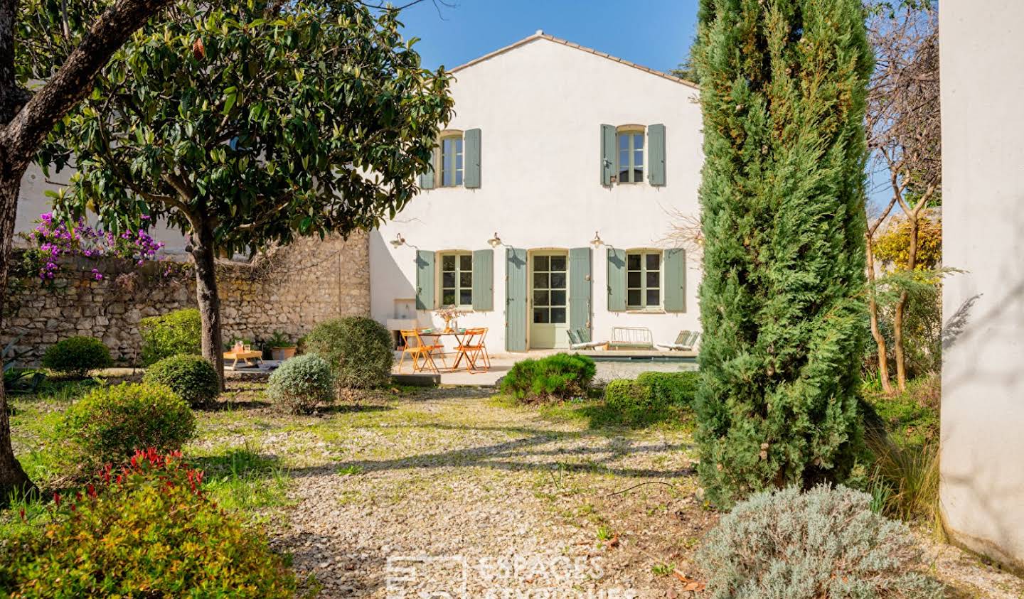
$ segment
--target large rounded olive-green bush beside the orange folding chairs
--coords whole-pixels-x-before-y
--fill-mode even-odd
[[[305,337],[304,351],[331,365],[340,389],[372,389],[391,380],[394,342],[380,323],[364,316],[326,320]]]

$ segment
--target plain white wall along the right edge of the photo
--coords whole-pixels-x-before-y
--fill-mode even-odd
[[[942,511],[1024,570],[1024,3],[943,2]]]

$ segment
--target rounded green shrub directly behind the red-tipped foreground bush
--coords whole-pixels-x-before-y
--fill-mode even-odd
[[[196,434],[188,404],[164,385],[122,383],[100,387],[72,404],[58,436],[80,467],[121,464],[135,450],[180,450]]]

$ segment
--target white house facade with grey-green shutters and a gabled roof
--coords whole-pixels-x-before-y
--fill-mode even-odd
[[[696,88],[538,32],[453,70],[455,117],[423,190],[370,239],[371,313],[391,329],[486,327],[492,352],[614,327],[696,330]]]

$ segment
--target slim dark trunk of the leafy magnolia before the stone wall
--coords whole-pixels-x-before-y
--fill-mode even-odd
[[[216,248],[209,220],[200,216],[194,223],[193,259],[196,261],[196,302],[203,322],[203,357],[217,370],[220,390],[224,390],[224,344],[220,331],[220,295],[217,292]]]

